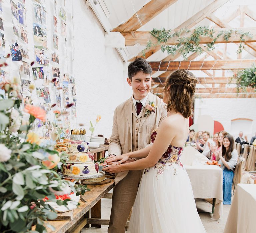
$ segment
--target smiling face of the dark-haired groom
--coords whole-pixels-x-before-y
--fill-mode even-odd
[[[127,78],[128,84],[132,87],[134,99],[142,100],[148,95],[151,88],[151,81],[151,74],[144,74],[142,71],[134,75],[132,80]]]

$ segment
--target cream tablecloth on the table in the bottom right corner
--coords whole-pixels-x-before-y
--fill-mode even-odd
[[[224,233],[256,232],[256,184],[238,184]]]

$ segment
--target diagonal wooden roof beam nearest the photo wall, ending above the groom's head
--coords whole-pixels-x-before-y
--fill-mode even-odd
[[[112,32],[130,32],[136,31],[142,25],[149,22],[151,19],[160,14],[163,10],[171,6],[177,0],[151,0],[139,11],[137,11],[130,19],[125,23],[120,24],[114,28]]]

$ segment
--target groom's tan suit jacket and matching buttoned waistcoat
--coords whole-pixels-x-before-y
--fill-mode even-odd
[[[153,129],[167,116],[165,104],[163,101],[149,93],[146,104],[154,102],[155,113],[148,114],[144,117],[146,108],[143,108],[137,116],[132,97],[123,102],[114,112],[112,135],[110,137],[109,154],[120,155],[132,151],[133,142],[136,141],[137,148],[143,149],[150,141],[150,134]],[[134,136],[134,138],[132,138]],[[115,184],[122,180],[128,171],[119,172],[115,176]]]

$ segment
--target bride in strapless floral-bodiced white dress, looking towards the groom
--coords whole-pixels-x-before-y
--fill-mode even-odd
[[[196,82],[189,71],[173,72],[167,78],[163,92],[168,114],[159,128],[151,133],[153,144],[106,159],[109,166],[103,170],[111,173],[144,168],[128,232],[206,232],[196,210],[188,174],[180,162]],[[140,159],[123,163],[128,158]]]

